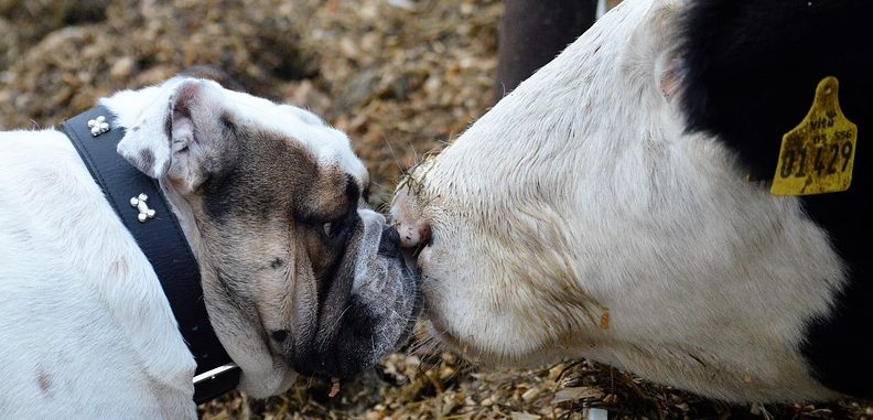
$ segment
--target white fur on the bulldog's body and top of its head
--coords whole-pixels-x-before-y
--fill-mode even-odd
[[[120,126],[139,126],[158,142],[179,83],[121,91],[104,104]],[[295,139],[366,185],[345,134],[306,111],[214,87],[238,121]],[[55,130],[0,132],[0,157],[2,417],[196,418],[196,366],[166,298],[69,140]],[[164,192],[196,252],[190,208]],[[265,343],[219,338],[242,367],[241,390],[266,396],[293,381]]]

